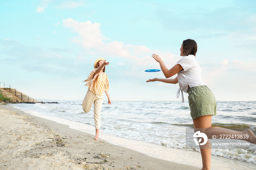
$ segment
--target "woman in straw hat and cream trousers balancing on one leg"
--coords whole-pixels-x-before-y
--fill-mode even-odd
[[[105,73],[105,66],[109,65],[104,58],[98,58],[94,62],[94,70],[89,74],[88,78],[84,80],[85,85],[88,86],[87,93],[83,100],[83,111],[90,112],[91,106],[94,106],[94,123],[95,123],[95,140],[99,139],[99,128],[101,125],[101,106],[103,103],[103,92],[108,97],[108,104],[111,104],[109,97],[109,81]]]

